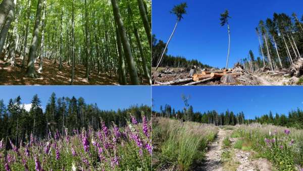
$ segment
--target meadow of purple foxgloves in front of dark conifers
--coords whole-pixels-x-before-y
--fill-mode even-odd
[[[69,135],[49,132],[44,140],[30,135],[26,142],[5,149],[0,141],[0,170],[150,170],[151,121],[131,117],[125,127],[102,121],[97,131],[73,130]]]

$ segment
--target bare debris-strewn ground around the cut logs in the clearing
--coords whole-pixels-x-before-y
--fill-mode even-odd
[[[163,83],[179,79],[189,78],[189,69],[186,68],[159,68],[158,71],[152,68],[153,71],[153,83]],[[200,73],[199,70],[196,73]],[[220,78],[215,78],[210,81],[198,83],[196,85],[204,86],[285,86],[300,84],[300,78],[284,76],[283,74],[277,74],[274,72],[254,72],[251,73],[246,70],[242,70],[242,74],[235,76],[234,82],[224,83]],[[186,82],[184,82],[186,83]]]

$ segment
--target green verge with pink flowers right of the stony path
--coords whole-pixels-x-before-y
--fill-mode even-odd
[[[303,130],[251,124],[238,126],[237,133],[243,139],[236,142],[235,148],[253,148],[279,170],[296,170],[303,165]]]

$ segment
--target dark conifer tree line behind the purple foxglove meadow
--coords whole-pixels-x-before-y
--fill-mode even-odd
[[[32,134],[41,140],[49,133],[64,135],[65,128],[68,134],[73,135],[75,130],[85,129],[97,130],[100,128],[100,121],[104,121],[108,127],[114,124],[123,127],[127,121],[131,121],[131,115],[138,121],[142,121],[142,115],[148,119],[151,115],[151,108],[147,105],[132,105],[126,109],[102,110],[97,104],[87,104],[80,98],[60,97],[53,93],[49,98],[45,109],[37,95],[31,100],[31,108],[25,110],[24,104],[18,96],[10,99],[6,105],[0,100],[0,141],[5,140],[9,145],[9,138],[19,144],[25,141]]]

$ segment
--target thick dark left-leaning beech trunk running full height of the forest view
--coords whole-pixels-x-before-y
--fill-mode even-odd
[[[111,2],[112,2],[112,6],[113,6],[114,17],[115,17],[116,23],[118,25],[119,33],[121,35],[123,50],[124,50],[124,54],[126,57],[128,70],[130,73],[131,83],[134,85],[138,85],[139,84],[138,74],[137,74],[134,59],[133,59],[133,56],[131,53],[130,44],[129,44],[129,41],[128,41],[128,38],[126,35],[126,30],[123,25],[122,17],[121,17],[119,7],[117,4],[117,0],[111,0]]]

